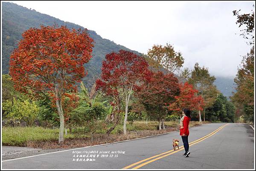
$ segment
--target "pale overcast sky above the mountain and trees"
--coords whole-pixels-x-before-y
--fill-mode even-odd
[[[10,1],[9,1],[10,2]],[[233,10],[251,13],[254,1],[11,1],[96,31],[105,39],[147,53],[170,43],[214,76],[235,77],[250,50]]]

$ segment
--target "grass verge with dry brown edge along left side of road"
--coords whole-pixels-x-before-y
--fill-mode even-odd
[[[204,123],[204,122],[203,122]],[[191,121],[189,127],[198,126],[202,123]],[[91,141],[90,134],[72,133],[64,134],[64,143],[58,144],[58,129],[46,129],[42,127],[3,127],[3,146],[23,146],[42,149],[73,148],[93,146],[104,143],[112,143],[122,140],[131,140],[151,135],[159,135],[178,130],[177,122],[165,122],[166,130],[157,130],[158,123],[150,121],[135,121],[127,124],[127,135],[122,134],[122,125],[116,126],[109,136],[104,131],[98,130]]]

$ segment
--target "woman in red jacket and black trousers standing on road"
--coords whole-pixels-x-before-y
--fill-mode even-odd
[[[191,119],[191,111],[189,109],[182,110],[182,118],[180,119],[180,136],[183,141],[183,146],[185,149],[185,153],[182,155],[184,157],[189,157],[189,121]]]

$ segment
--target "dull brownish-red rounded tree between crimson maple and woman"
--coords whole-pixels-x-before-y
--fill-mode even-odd
[[[178,79],[173,73],[164,74],[161,71],[152,73],[150,79],[143,84],[136,86],[136,96],[145,106],[151,118],[159,121],[164,128],[164,118],[167,114],[167,106],[175,100],[179,93]]]

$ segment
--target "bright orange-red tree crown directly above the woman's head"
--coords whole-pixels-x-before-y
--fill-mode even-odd
[[[180,83],[180,95],[175,96],[175,102],[169,104],[168,109],[177,111],[181,115],[183,108],[191,110],[202,110],[204,106],[204,100],[201,95],[197,95],[198,90],[194,89],[191,84],[185,82]]]

